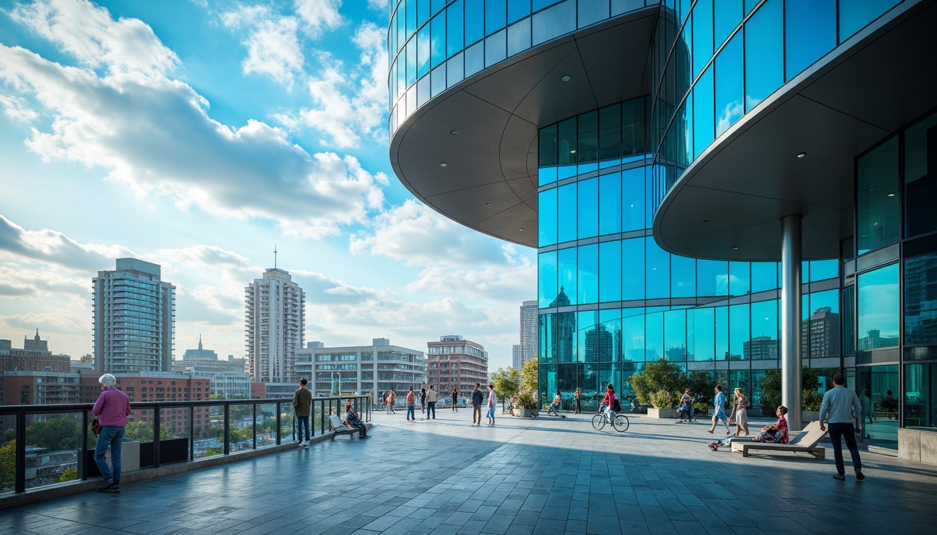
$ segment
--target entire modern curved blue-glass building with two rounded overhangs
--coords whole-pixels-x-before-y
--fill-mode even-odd
[[[839,368],[863,437],[921,458],[937,3],[400,0],[390,21],[394,171],[538,249],[544,400],[594,406],[665,358],[756,406],[781,369],[796,422],[800,366]]]

